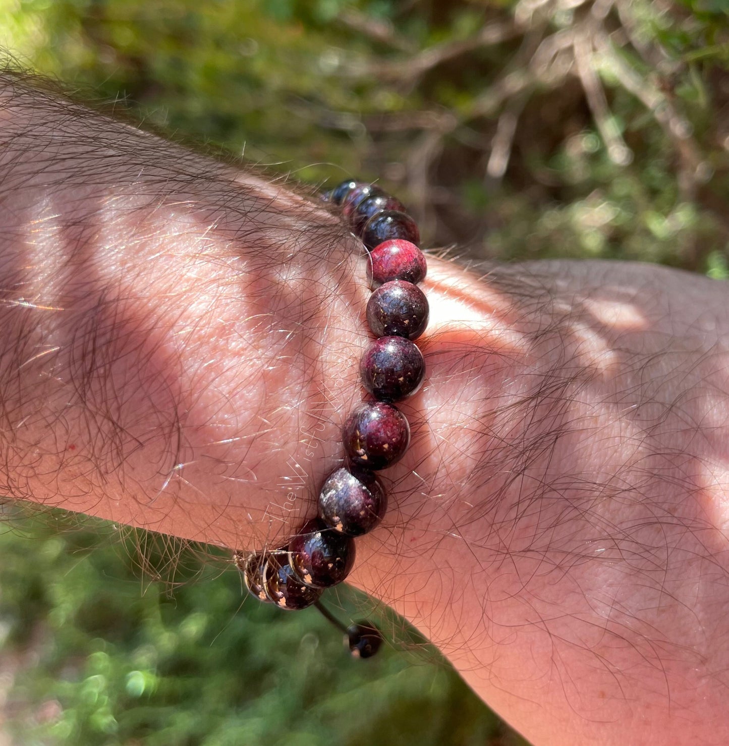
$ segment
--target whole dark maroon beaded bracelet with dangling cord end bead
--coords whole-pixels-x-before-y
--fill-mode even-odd
[[[375,471],[392,466],[410,445],[410,425],[393,406],[422,385],[425,361],[413,343],[428,325],[428,300],[417,286],[425,278],[419,231],[400,201],[378,186],[358,181],[322,195],[340,207],[351,231],[369,251],[368,280],[374,289],[366,317],[377,337],[360,362],[364,401],[345,421],[342,440],[346,466],[325,480],[319,492],[319,516],[307,521],[289,545],[275,551],[243,554],[234,562],[245,587],[260,601],[282,609],[322,606],[324,589],[341,583],[354,565],[354,538],[372,530],[387,508],[387,496]],[[381,642],[376,627],[354,624],[345,630],[353,655],[374,655]]]

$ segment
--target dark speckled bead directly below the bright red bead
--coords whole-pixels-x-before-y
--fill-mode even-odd
[[[367,323],[375,336],[417,339],[428,326],[428,298],[411,282],[390,280],[370,295]]]

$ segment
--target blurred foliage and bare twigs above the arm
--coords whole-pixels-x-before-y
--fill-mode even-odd
[[[727,105],[728,3],[608,10],[0,0],[0,28],[31,66],[123,98],[152,125],[303,181],[384,181],[430,244],[706,270],[729,235],[729,131],[715,116]],[[481,39],[489,25],[495,37]],[[560,33],[587,41],[607,110],[575,75],[577,48],[555,46]],[[504,116],[517,125],[501,168]]]

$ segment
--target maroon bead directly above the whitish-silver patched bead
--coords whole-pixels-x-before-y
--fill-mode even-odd
[[[381,401],[366,401],[342,427],[344,449],[355,466],[373,470],[400,460],[410,445],[410,425],[403,413]]]

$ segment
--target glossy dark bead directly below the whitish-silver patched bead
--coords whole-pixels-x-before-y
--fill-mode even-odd
[[[336,586],[354,565],[354,539],[313,518],[291,539],[289,562],[304,585]]]

